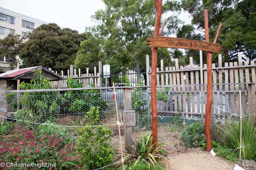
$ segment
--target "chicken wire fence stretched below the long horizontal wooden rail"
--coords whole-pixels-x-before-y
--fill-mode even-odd
[[[255,120],[254,86],[226,85],[213,86],[212,89],[212,123],[225,123],[231,118],[239,120],[240,111],[242,116]],[[45,134],[57,132],[76,141],[80,135],[87,133],[89,127],[101,126],[110,130],[112,148],[120,151],[119,125],[122,143],[132,146],[131,140],[138,141],[142,135],[148,135],[151,131],[151,91],[150,88],[117,88],[115,92],[116,101],[114,91],[109,88],[26,92],[20,94],[19,101],[16,94],[7,93],[8,112],[2,113],[1,120],[14,125],[9,129],[1,128],[0,141],[14,145],[18,142],[16,136],[24,133],[24,129],[33,130],[34,136],[44,137]],[[175,156],[187,148],[200,146],[205,134],[206,101],[206,86],[157,89],[158,142],[168,156]],[[135,118],[124,118],[124,111],[133,110]],[[117,123],[117,112],[120,123]],[[134,124],[130,126],[129,123]],[[92,137],[91,142],[93,140]],[[3,146],[0,146],[1,149]]]

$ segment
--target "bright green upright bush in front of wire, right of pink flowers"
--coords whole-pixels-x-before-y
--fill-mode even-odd
[[[97,126],[99,121],[98,107],[91,107],[91,110],[84,116],[86,126]],[[81,154],[80,163],[86,169],[97,169],[112,163],[114,151],[110,146],[110,135],[113,132],[102,126],[85,127],[84,134],[78,137],[76,151]]]

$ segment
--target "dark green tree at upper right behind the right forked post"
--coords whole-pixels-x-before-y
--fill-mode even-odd
[[[219,24],[223,23],[217,41],[222,46],[222,62],[237,61],[238,52],[242,52],[244,60],[256,59],[255,0],[181,0],[176,7],[188,12],[192,18],[191,25],[178,29],[177,37],[204,40],[203,10],[208,9],[210,42],[213,42]],[[199,52],[197,53],[199,56]],[[195,51],[186,50],[186,54],[188,58],[195,55]],[[205,57],[204,53],[203,56]],[[213,54],[212,60],[213,63],[218,63],[217,53]],[[195,62],[198,63],[199,60]]]

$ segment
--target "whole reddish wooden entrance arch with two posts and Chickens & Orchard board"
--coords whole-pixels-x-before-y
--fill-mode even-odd
[[[189,40],[173,37],[161,37],[163,27],[159,32],[160,20],[162,14],[162,0],[154,0],[156,8],[156,17],[155,17],[155,30],[154,37],[149,37],[147,39],[148,47],[151,48],[152,52],[152,71],[151,71],[151,107],[152,107],[152,134],[153,134],[153,143],[154,148],[158,147],[158,138],[157,138],[157,93],[156,93],[156,75],[157,75],[157,49],[158,47],[164,48],[185,48],[185,49],[194,49],[194,50],[204,50],[206,51],[207,56],[207,103],[206,103],[206,116],[205,116],[205,133],[206,133],[206,150],[211,151],[211,105],[212,105],[212,52],[221,51],[221,46],[216,44],[216,41],[221,31],[222,24],[219,25],[219,29],[215,36],[214,42],[209,43],[209,28],[208,28],[208,11],[204,10],[204,25],[205,25],[205,36],[206,41],[198,40]]]

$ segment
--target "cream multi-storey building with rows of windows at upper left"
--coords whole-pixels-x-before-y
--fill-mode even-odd
[[[9,33],[24,36],[25,32],[32,31],[42,24],[48,23],[0,7],[0,39],[4,39],[4,37],[6,37]],[[23,39],[26,41],[25,37],[23,37]],[[0,56],[0,68],[2,68],[3,71],[10,70],[8,61],[5,60],[4,56]]]

